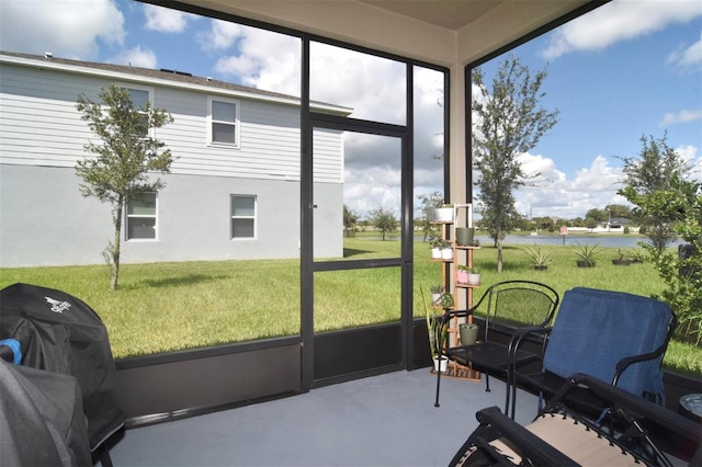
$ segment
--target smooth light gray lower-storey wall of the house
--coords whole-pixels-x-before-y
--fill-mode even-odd
[[[124,240],[122,261],[218,261],[299,257],[299,183],[165,175],[158,239]],[[0,166],[0,265],[100,264],[112,240],[110,207],[78,191],[73,169]],[[342,189],[318,184],[315,253],[342,254]],[[256,238],[230,239],[233,194],[257,196]],[[336,235],[335,235],[336,234]]]

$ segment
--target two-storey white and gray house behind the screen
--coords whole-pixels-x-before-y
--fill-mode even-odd
[[[97,137],[76,101],[111,82],[174,123],[155,137],[177,157],[166,187],[129,202],[125,263],[299,257],[298,98],[189,73],[0,53],[0,266],[101,263],[110,206],[80,195],[76,161]],[[313,104],[318,112],[350,110]],[[315,254],[342,253],[343,144],[315,135]]]

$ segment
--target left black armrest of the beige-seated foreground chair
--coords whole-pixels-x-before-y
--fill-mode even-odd
[[[577,466],[578,464],[524,426],[500,412],[497,407],[483,409],[475,414],[482,425],[491,425],[516,446],[522,457],[539,466]]]

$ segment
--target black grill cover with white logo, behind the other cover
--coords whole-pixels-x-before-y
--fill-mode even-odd
[[[0,340],[15,339],[21,364],[76,377],[83,395],[90,448],[124,424],[107,330],[79,298],[14,284],[0,291]]]

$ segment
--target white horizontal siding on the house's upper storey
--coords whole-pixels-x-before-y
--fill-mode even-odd
[[[0,65],[0,161],[2,163],[75,167],[87,156],[83,146],[99,139],[76,110],[80,93],[97,101],[102,78],[68,71]],[[238,147],[207,141],[207,98],[194,90],[143,86],[151,102],[167,109],[172,124],[154,136],[171,150],[172,173],[299,181],[299,109],[263,100],[239,99]],[[227,96],[231,99],[231,96]],[[316,138],[316,181],[342,182],[342,147],[338,132]]]

